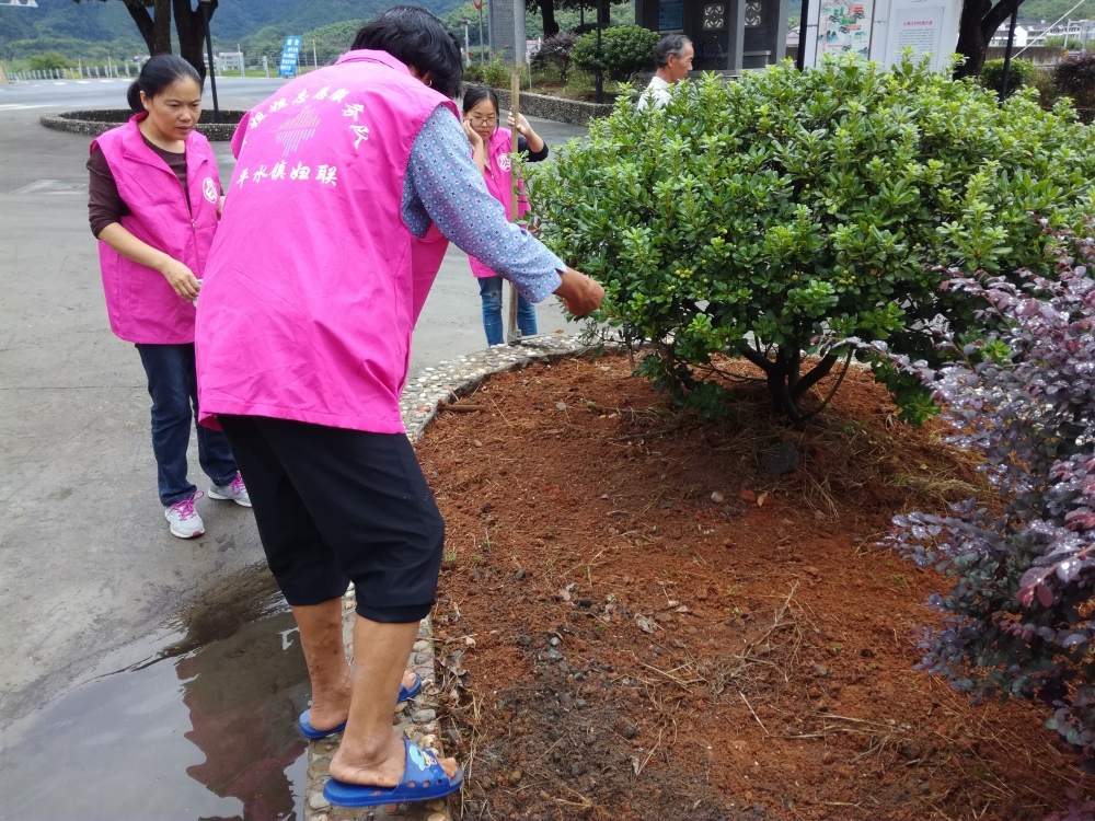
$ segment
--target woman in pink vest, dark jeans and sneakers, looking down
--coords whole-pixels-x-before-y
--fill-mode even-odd
[[[201,81],[182,57],[152,57],[129,88],[137,114],[91,143],[91,230],[111,329],[137,346],[152,396],[152,452],[171,532],[205,532],[186,477],[197,415],[194,319],[220,216],[220,176],[209,141],[194,130]],[[192,407],[193,405],[193,407]],[[210,498],[251,507],[224,435],[198,427]]]

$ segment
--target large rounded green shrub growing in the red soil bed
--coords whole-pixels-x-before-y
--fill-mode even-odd
[[[982,305],[935,266],[1052,274],[1030,212],[1077,224],[1095,180],[1095,137],[1056,111],[909,57],[785,63],[683,83],[659,111],[626,95],[526,175],[540,236],[606,288],[595,319],[653,343],[643,373],[715,413],[712,355],[745,357],[802,421],[811,385],[853,356],[839,340],[932,361],[933,326],[978,327]],[[856,351],[903,418],[934,413],[919,380]]]

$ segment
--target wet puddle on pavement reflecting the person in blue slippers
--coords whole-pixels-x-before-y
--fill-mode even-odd
[[[23,725],[0,758],[0,819],[300,821],[295,628],[268,573],[224,580]]]

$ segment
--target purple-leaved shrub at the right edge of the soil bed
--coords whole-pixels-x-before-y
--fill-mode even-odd
[[[1095,234],[1052,236],[1054,279],[944,282],[987,303],[979,319],[996,328],[965,344],[942,333],[954,363],[895,357],[944,405],[957,429],[947,441],[983,455],[1000,502],[895,517],[887,543],[954,579],[929,598],[944,626],[924,628],[918,667],[975,703],[1045,702],[1046,726],[1095,770]]]

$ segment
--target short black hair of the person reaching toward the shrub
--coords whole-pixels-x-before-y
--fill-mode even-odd
[[[445,23],[417,5],[395,5],[366,23],[355,49],[388,51],[400,62],[429,76],[429,86],[449,100],[460,96],[464,69],[460,47]]]

